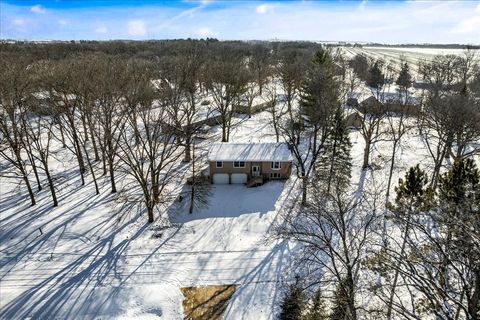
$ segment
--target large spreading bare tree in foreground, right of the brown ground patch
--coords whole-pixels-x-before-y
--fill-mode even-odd
[[[339,304],[342,319],[357,319],[360,269],[373,243],[377,226],[377,197],[354,200],[345,190],[313,187],[310,205],[285,214],[278,228],[282,237],[301,243],[297,261],[307,287],[321,286]],[[336,294],[333,293],[336,288]]]

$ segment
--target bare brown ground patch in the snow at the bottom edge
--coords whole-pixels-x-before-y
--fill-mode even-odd
[[[186,320],[221,320],[228,301],[237,289],[234,284],[180,288],[185,297]]]

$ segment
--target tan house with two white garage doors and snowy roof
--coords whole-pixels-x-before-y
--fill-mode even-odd
[[[256,185],[287,179],[292,155],[285,143],[214,143],[208,152],[210,181],[215,184]]]

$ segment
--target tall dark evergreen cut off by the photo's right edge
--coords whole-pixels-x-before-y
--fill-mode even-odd
[[[472,159],[458,158],[439,177],[438,209],[433,221],[441,230],[436,249],[443,257],[438,281],[446,292],[452,290],[456,270],[464,281],[458,289],[465,295],[466,319],[480,314],[480,173]],[[458,269],[461,266],[461,269]]]

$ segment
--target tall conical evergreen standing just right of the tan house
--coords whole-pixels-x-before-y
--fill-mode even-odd
[[[332,187],[338,190],[348,187],[352,171],[351,148],[343,111],[337,108],[325,140],[324,152],[318,158],[316,166],[316,179],[326,183],[327,193]]]

